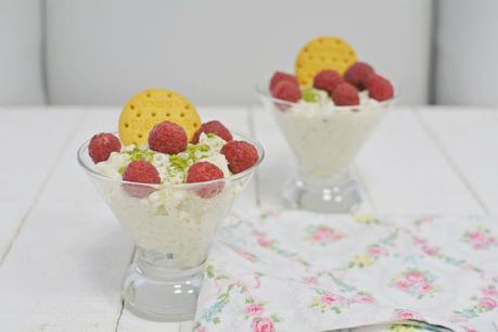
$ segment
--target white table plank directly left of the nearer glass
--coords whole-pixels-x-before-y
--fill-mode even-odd
[[[0,269],[4,331],[115,330],[132,245],[77,164],[76,150],[117,112],[85,112]],[[47,135],[65,140],[60,129]]]

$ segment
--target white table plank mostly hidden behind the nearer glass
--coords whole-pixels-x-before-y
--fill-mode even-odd
[[[250,133],[250,114],[245,107],[200,107],[199,113],[203,122],[219,120],[229,129],[242,133]],[[256,179],[247,186],[233,206],[233,210],[239,213],[250,212],[256,207]],[[129,311],[123,311],[119,319],[117,331],[146,331],[146,332],[167,332],[167,331],[192,331],[192,321],[181,323],[158,323],[143,320]]]

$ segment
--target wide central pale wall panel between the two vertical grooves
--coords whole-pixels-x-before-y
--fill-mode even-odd
[[[146,87],[256,103],[255,82],[324,34],[393,78],[401,103],[427,100],[430,0],[48,0],[47,24],[56,104],[123,104]]]

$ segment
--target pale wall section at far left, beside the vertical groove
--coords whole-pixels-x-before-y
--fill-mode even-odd
[[[40,0],[0,0],[0,105],[43,103]]]

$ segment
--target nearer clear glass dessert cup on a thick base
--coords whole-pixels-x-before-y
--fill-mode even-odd
[[[78,162],[136,245],[132,264],[123,278],[126,308],[159,321],[193,319],[203,266],[218,225],[246,187],[264,157],[251,168],[224,179],[200,183],[143,184],[111,179],[98,171],[88,143]]]

